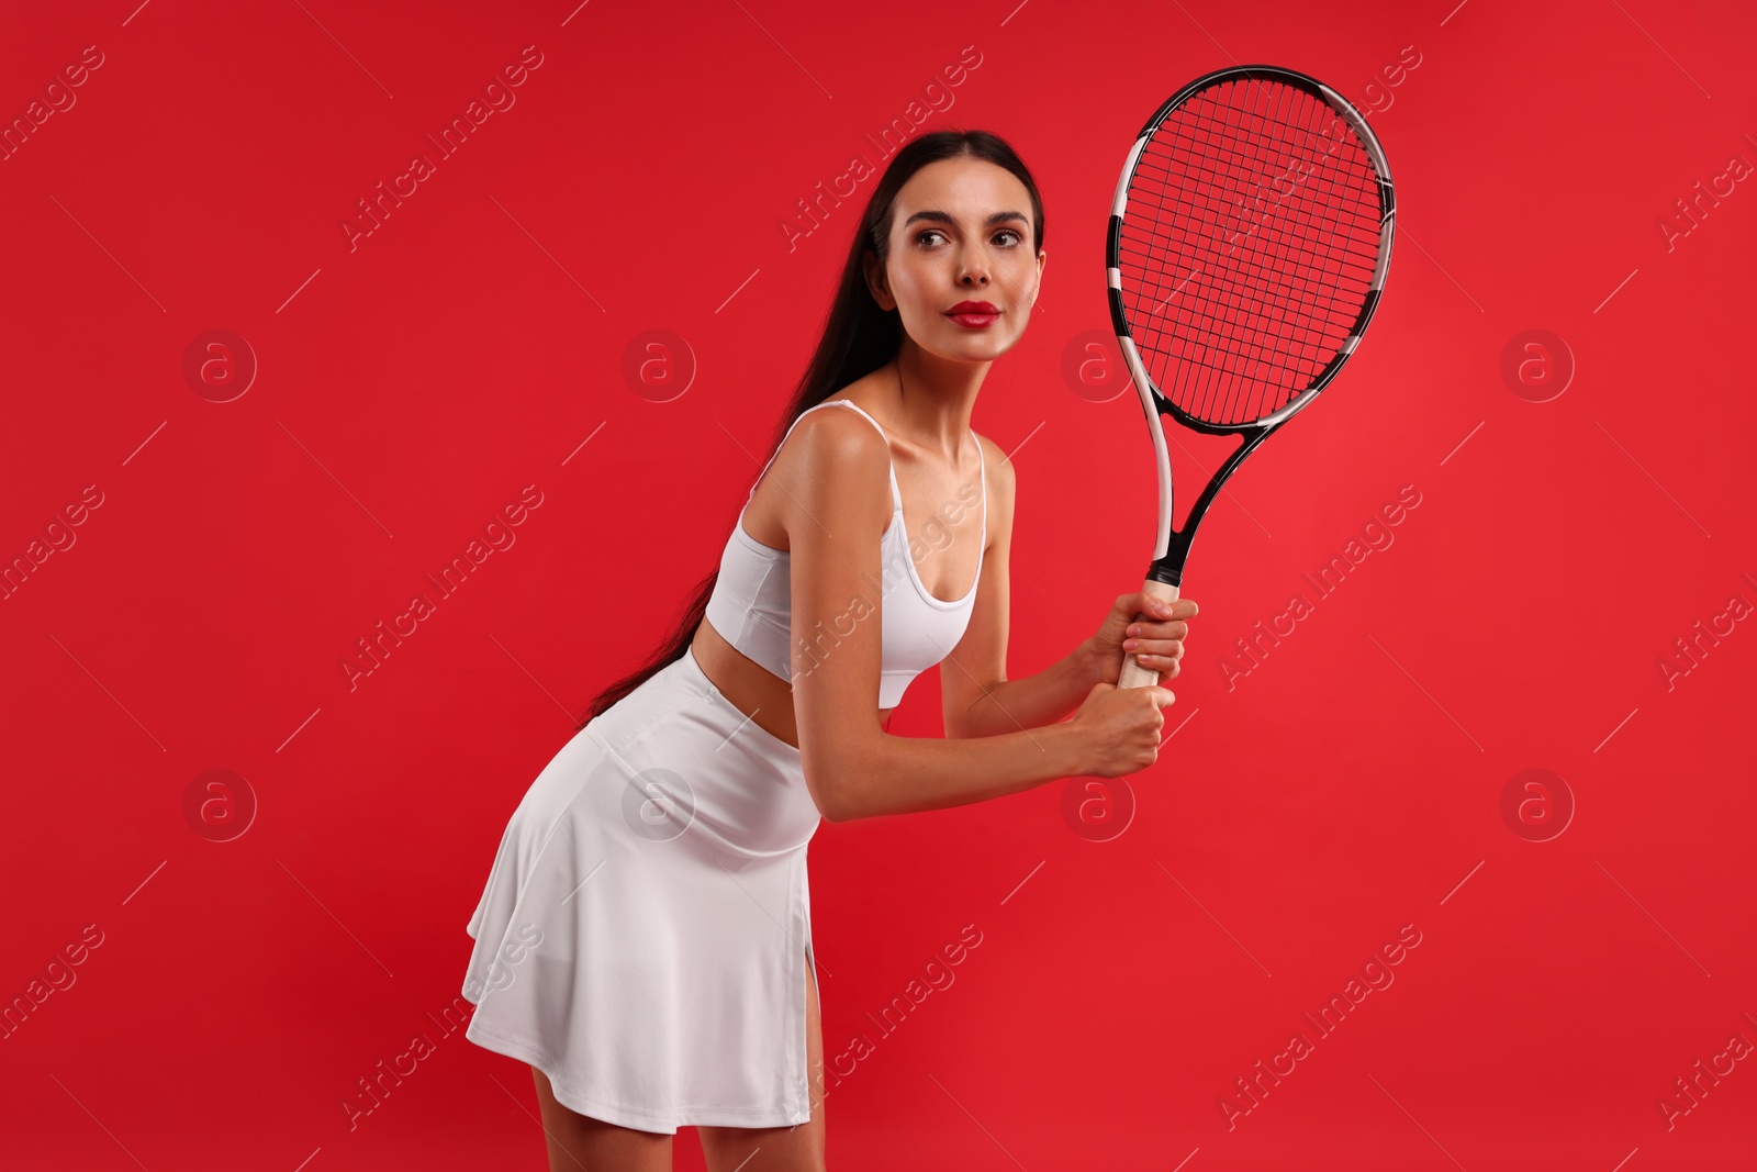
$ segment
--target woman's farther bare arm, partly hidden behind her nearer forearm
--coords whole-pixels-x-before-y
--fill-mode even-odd
[[[1012,460],[998,446],[987,439],[982,443],[993,453],[987,460],[987,467],[993,469],[989,471],[989,548],[982,555],[982,582],[977,587],[970,626],[940,664],[947,738],[994,736],[1054,724],[1079,708],[1093,684],[1103,680],[1103,664],[1091,640],[1081,641],[1077,648],[1037,675],[1007,678],[1009,564],[1017,476]]]

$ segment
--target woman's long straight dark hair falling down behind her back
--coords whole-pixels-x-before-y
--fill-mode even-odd
[[[1031,232],[1035,250],[1044,250],[1044,200],[1037,192],[1037,181],[1021,162],[1019,155],[996,134],[987,130],[933,130],[908,142],[900,149],[878,177],[861,213],[859,228],[849,244],[849,258],[842,267],[842,281],[836,285],[836,299],[824,318],[824,332],[812,353],[812,362],[805,369],[787,415],[775,430],[775,452],[792,423],[810,408],[824,402],[849,383],[871,374],[898,355],[903,346],[903,322],[896,309],[880,309],[866,288],[866,253],[877,255],[884,265],[891,251],[891,220],[896,211],[896,193],[908,183],[910,176],[944,158],[970,156],[1010,170],[1024,190],[1031,195]],[[590,720],[603,715],[618,699],[638,689],[664,666],[683,657],[701,627],[708,611],[708,599],[720,578],[719,561],[713,573],[701,580],[694,596],[683,608],[683,617],[676,629],[666,636],[664,647],[654,652],[652,659],[636,671],[622,676],[599,692],[585,717],[576,727],[583,729]]]

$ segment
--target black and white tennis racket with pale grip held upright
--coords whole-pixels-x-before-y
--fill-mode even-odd
[[[1105,250],[1110,323],[1160,471],[1146,594],[1177,597],[1214,494],[1355,351],[1392,262],[1392,207],[1367,119],[1291,69],[1216,70],[1147,119],[1116,184]],[[1244,439],[1182,531],[1172,529],[1161,415]],[[1123,661],[1117,687],[1158,682],[1133,655]]]

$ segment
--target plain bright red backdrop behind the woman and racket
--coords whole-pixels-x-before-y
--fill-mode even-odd
[[[571,715],[715,564],[873,181],[791,251],[782,220],[852,155],[880,165],[864,135],[966,46],[926,127],[1009,137],[1047,202],[1045,293],[975,413],[1017,464],[1016,676],[1146,564],[1139,408],[1061,376],[1109,323],[1142,119],[1232,61],[1314,74],[1379,132],[1399,237],[1356,357],[1202,529],[1188,724],[1130,778],[1126,831],[1065,821],[1079,782],[819,831],[826,1054],[873,1042],[829,1093],[833,1165],[1752,1167],[1750,1060],[1673,1126],[1659,1107],[1757,1040],[1757,631],[1704,640],[1669,689],[1659,668],[1757,604],[1757,188],[1669,250],[1659,228],[1757,163],[1748,5],[123,0],[7,23],[5,119],[84,46],[104,61],[0,162],[0,557],[77,538],[0,608],[0,996],[102,933],[0,1042],[7,1167],[541,1167],[527,1068],[432,1024],[464,922]],[[517,104],[350,250],[357,200],[525,46]],[[1406,46],[1421,63],[1385,86]],[[211,329],[260,364],[230,402],[183,374]],[[650,329],[694,355],[669,402],[624,378]],[[1544,402],[1500,373],[1530,329],[1576,367]],[[1179,517],[1218,450],[1174,448]],[[102,504],[54,529],[86,485]],[[357,640],[525,485],[517,543],[350,689]],[[1228,689],[1233,641],[1404,485],[1395,543]],[[894,731],[940,733],[936,673]],[[184,814],[216,768],[257,801],[230,842]],[[1502,815],[1534,768],[1574,803],[1546,842],[1544,810]],[[868,1012],[966,924],[956,984],[878,1035]],[[1302,1014],[1406,924],[1395,982],[1320,1038]],[[418,1031],[437,1053],[350,1130],[357,1079]],[[1293,1031],[1314,1053],[1228,1126]],[[687,1130],[676,1151],[701,1167]]]

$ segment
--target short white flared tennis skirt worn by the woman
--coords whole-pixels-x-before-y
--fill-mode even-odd
[[[587,724],[501,838],[466,931],[466,1037],[643,1132],[812,1118],[799,750],[692,652]]]

